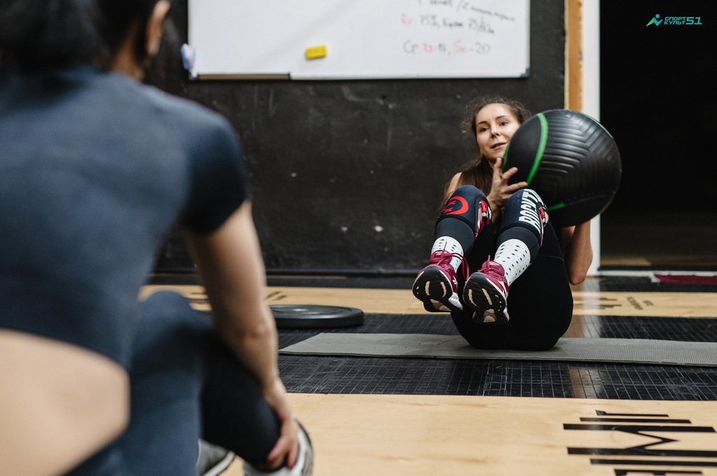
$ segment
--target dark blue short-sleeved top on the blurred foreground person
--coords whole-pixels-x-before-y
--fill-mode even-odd
[[[216,113],[89,65],[0,68],[0,327],[126,366],[168,229],[212,232],[247,194]]]

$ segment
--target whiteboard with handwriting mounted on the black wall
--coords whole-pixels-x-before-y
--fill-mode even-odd
[[[525,77],[530,0],[189,0],[192,77]],[[307,49],[324,47],[309,59]],[[313,50],[312,50],[313,51]]]

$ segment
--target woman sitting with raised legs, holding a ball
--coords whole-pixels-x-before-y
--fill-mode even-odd
[[[413,285],[424,308],[450,312],[476,348],[552,348],[572,318],[570,285],[592,263],[590,222],[554,229],[541,197],[526,182],[510,183],[517,169],[503,171],[508,143],[529,116],[502,97],[468,105],[463,132],[479,156],[447,184],[429,265]]]

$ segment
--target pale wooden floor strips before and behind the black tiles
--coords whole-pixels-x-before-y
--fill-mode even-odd
[[[267,303],[339,305],[425,315],[408,289],[272,285]],[[208,310],[198,285],[170,287]],[[717,329],[717,287],[574,289],[579,316],[659,318]],[[706,289],[706,290],[705,290]],[[668,322],[668,321],[665,321]],[[708,341],[713,341],[711,335]],[[717,343],[716,343],[717,345]],[[420,365],[420,364],[419,364]],[[376,371],[381,371],[378,367]],[[645,389],[649,391],[649,389]],[[315,445],[316,476],[717,475],[717,401],[422,394],[290,394]],[[241,475],[239,461],[224,473]]]

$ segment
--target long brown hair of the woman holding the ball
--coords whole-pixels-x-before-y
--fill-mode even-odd
[[[516,100],[509,100],[505,97],[498,95],[485,95],[477,97],[475,100],[468,103],[465,107],[465,115],[462,122],[460,123],[461,133],[468,138],[475,141],[478,138],[478,133],[475,130],[475,118],[481,109],[489,104],[504,104],[508,110],[516,116],[519,124],[522,124],[531,117],[530,111],[526,109],[524,105]],[[458,186],[462,185],[473,185],[482,190],[486,195],[490,194],[491,186],[493,186],[493,168],[490,168],[490,163],[483,160],[483,156],[478,153],[478,157],[470,162],[465,163],[460,168],[460,178],[458,179]],[[450,198],[448,187],[446,184],[444,190],[443,203]]]

